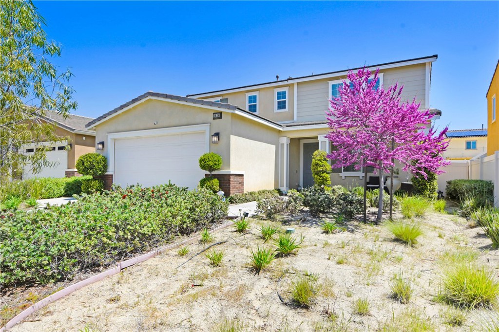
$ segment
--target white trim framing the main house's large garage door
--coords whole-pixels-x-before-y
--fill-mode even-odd
[[[107,173],[114,173],[114,141],[116,139],[175,135],[181,133],[205,133],[205,151],[210,152],[210,124],[137,130],[132,132],[107,134]]]

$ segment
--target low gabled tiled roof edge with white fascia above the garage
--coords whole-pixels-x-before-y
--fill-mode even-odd
[[[268,120],[264,117],[261,117],[257,114],[251,113],[251,112],[244,110],[236,105],[217,103],[217,102],[212,102],[212,101],[207,101],[207,100],[202,100],[202,99],[188,98],[188,97],[170,95],[167,93],[159,93],[159,92],[153,92],[153,91],[148,91],[148,92],[124,103],[123,105],[120,105],[120,106],[116,107],[115,109],[101,115],[100,117],[93,119],[92,121],[90,121],[86,124],[86,128],[94,127],[97,124],[106,121],[106,119],[113,117],[115,115],[118,115],[121,111],[125,111],[126,109],[132,107],[133,105],[135,105],[141,101],[144,101],[148,98],[149,99],[165,99],[167,101],[173,101],[173,102],[177,102],[180,104],[192,104],[192,105],[196,105],[196,106],[210,108],[212,110],[223,109],[223,110],[227,110],[227,111],[232,111],[235,113],[239,113],[240,115],[250,117],[253,120],[256,120],[258,122],[270,125],[276,129],[282,128],[282,126],[280,124],[278,124],[277,122],[273,122],[273,121]]]

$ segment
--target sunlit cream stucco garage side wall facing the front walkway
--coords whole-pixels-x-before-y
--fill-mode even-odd
[[[245,191],[278,187],[279,131],[232,118],[231,168],[245,172]]]

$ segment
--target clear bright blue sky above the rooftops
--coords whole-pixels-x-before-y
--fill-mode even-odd
[[[439,126],[481,128],[499,1],[36,1],[79,107],[97,117],[152,90],[186,95],[438,54]]]

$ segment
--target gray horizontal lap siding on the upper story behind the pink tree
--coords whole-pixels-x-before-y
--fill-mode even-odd
[[[417,102],[425,105],[425,73],[426,64],[403,66],[380,71],[383,73],[383,85],[385,87],[404,85],[401,95],[402,100],[412,100],[416,97]],[[345,76],[331,77],[322,80],[306,81],[298,83],[297,88],[297,121],[320,121],[325,119],[325,112],[329,107],[329,81],[345,79]]]

